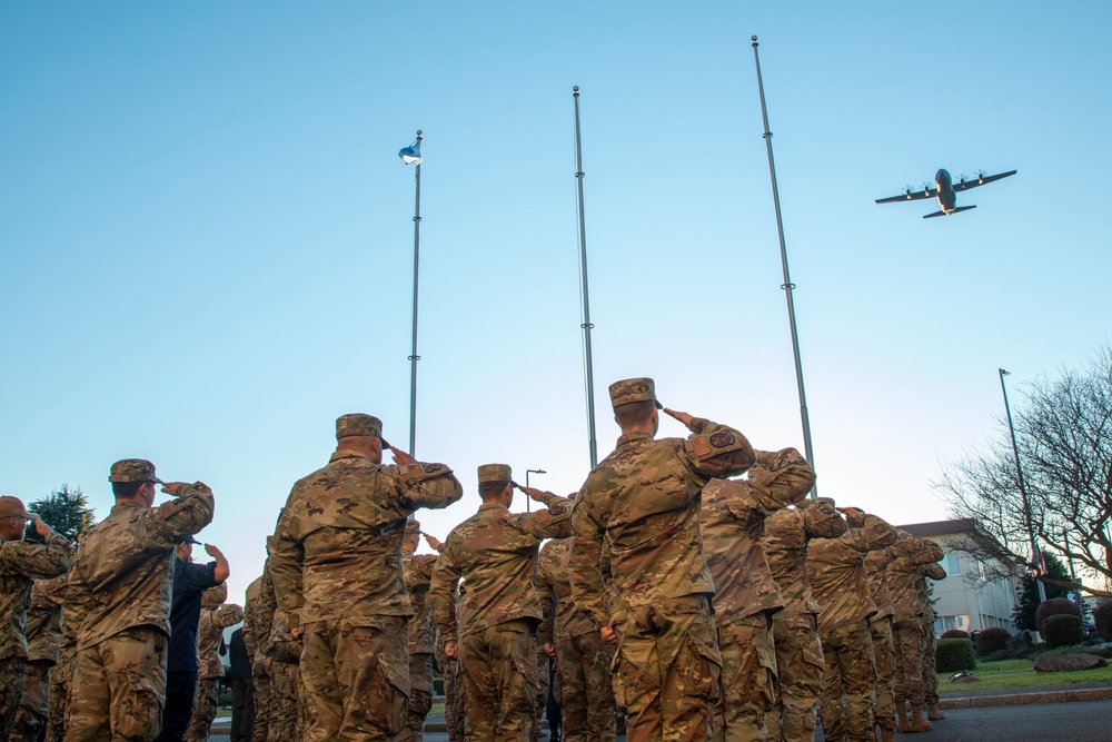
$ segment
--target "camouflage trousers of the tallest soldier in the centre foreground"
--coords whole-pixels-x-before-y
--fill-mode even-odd
[[[722,673],[707,597],[633,607],[614,629],[614,700],[628,716],[628,742],[704,742]]]

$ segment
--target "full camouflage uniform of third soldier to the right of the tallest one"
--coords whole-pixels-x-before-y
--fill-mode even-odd
[[[826,665],[822,696],[827,740],[875,740],[872,719],[873,642],[866,619],[876,613],[863,566],[865,554],[892,545],[896,531],[865,514],[861,527],[837,538],[816,538],[807,546],[807,576],[818,603],[818,635]],[[844,703],[844,708],[843,708]]]

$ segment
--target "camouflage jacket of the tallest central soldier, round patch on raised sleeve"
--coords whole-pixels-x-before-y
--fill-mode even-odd
[[[714,592],[699,535],[703,487],[713,477],[742,474],[753,464],[753,448],[725,425],[693,418],[689,428],[686,439],[623,435],[579,491],[572,592],[599,626],[618,623],[631,607]],[[604,540],[614,583],[609,605]]]

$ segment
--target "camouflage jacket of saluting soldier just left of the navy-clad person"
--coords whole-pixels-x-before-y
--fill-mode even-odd
[[[170,633],[178,540],[212,522],[212,491],[197,482],[156,507],[120,503],[81,541],[70,575],[66,621],[78,651],[133,626]]]

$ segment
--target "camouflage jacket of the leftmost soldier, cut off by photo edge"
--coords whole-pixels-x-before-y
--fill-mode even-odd
[[[0,660],[27,657],[27,606],[31,583],[66,573],[73,560],[73,546],[57,533],[48,533],[44,544],[0,538]]]

